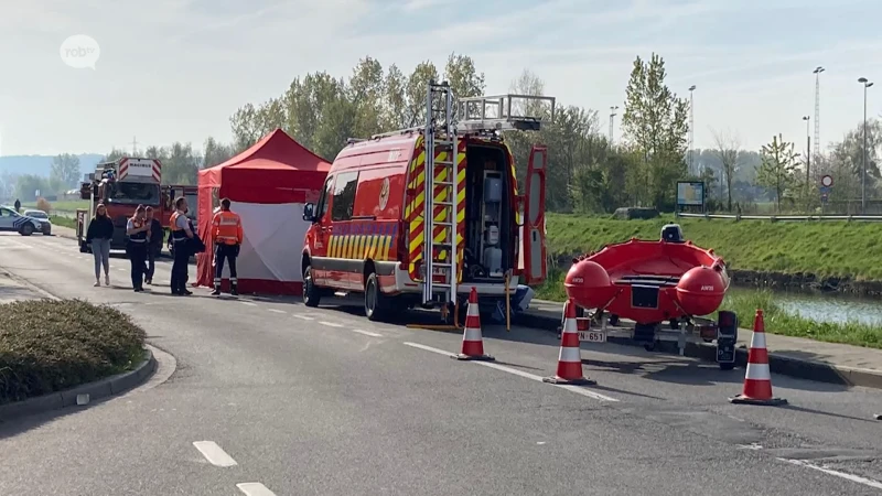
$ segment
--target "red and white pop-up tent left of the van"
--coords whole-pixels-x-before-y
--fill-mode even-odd
[[[198,284],[214,284],[211,224],[222,198],[241,217],[245,240],[238,258],[239,292],[301,294],[300,267],[309,223],[303,205],[315,202],[331,164],[277,129],[226,162],[200,171]],[[229,269],[224,268],[224,285]]]

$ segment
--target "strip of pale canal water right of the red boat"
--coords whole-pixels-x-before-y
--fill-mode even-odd
[[[730,292],[754,290],[730,288]],[[817,322],[857,321],[882,327],[882,300],[838,293],[774,292],[774,301],[784,311]]]

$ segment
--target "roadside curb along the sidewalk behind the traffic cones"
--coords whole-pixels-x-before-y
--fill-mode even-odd
[[[560,319],[536,315],[524,312],[519,315],[520,322],[526,325],[541,328],[544,331],[557,332]],[[641,346],[630,339],[610,337],[610,343]],[[717,362],[717,347],[710,344],[688,343],[684,355],[691,358],[699,358],[703,362]],[[735,349],[735,365],[746,367],[747,351],[744,348]],[[862,368],[837,366],[824,362],[803,360],[788,356],[768,354],[768,367],[775,374],[796,377],[799,379],[816,380],[820,382],[836,384],[840,386],[861,386],[865,388],[882,389],[882,373]]]

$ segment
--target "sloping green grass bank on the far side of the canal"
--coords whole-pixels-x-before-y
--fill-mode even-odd
[[[598,250],[631,237],[658,239],[673,216],[653,220],[548,214],[548,249],[552,255]],[[882,223],[685,219],[684,235],[713,248],[732,269],[809,272],[882,281]]]

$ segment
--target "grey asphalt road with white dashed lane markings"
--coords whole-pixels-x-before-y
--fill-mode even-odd
[[[74,241],[0,236],[0,267],[123,309],[171,355],[126,396],[0,424],[0,494],[882,494],[880,391],[774,377],[789,408],[733,406],[743,370],[611,344],[582,351],[599,386],[568,389],[537,380],[558,354],[542,331],[485,326],[497,362],[460,363],[456,334],[170,298],[168,261],[137,294],[111,266],[93,288]]]

